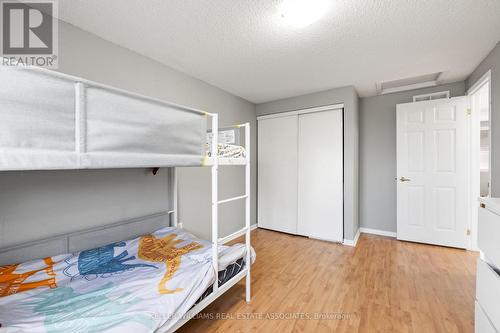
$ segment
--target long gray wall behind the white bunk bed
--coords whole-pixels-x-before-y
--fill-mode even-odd
[[[256,146],[252,103],[66,23],[59,35],[59,71],[216,112],[222,125],[249,121]],[[235,168],[221,171],[222,195],[243,191],[242,174]],[[253,168],[253,198],[255,179]],[[208,170],[180,170],[180,219],[208,239],[209,181]],[[0,184],[0,247],[155,213],[166,209],[169,200],[166,170],[157,176],[145,169],[3,172]],[[221,213],[222,235],[243,225],[237,208]]]

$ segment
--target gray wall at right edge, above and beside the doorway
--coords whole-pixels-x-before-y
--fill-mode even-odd
[[[500,42],[465,81],[469,89],[491,69],[491,194],[500,196]]]

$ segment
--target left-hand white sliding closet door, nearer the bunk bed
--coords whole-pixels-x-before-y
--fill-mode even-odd
[[[297,233],[297,115],[259,119],[259,227]]]

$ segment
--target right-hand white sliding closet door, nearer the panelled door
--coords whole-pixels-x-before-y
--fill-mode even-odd
[[[342,242],[342,109],[299,115],[298,233]]]

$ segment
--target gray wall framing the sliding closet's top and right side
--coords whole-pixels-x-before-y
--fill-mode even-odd
[[[354,239],[358,219],[358,95],[353,87],[258,104],[257,116],[344,103],[344,238]]]

